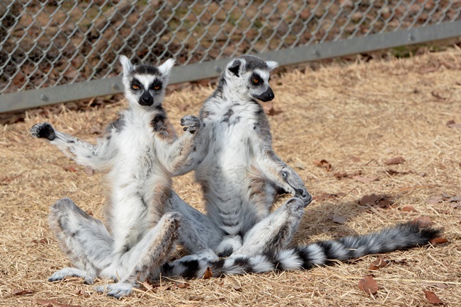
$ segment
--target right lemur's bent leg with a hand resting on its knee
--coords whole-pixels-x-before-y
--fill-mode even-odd
[[[290,243],[297,231],[305,203],[298,197],[288,199],[280,208],[262,219],[248,231],[243,245],[232,255],[261,255],[275,253]]]

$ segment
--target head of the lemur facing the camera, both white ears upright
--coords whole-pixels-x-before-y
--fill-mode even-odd
[[[125,96],[131,107],[155,108],[161,105],[174,62],[174,59],[167,59],[158,67],[134,65],[130,59],[120,55]]]

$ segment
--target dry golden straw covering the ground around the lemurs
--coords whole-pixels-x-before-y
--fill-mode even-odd
[[[461,195],[461,129],[446,123],[461,122],[460,69],[460,50],[449,50],[290,71],[273,80],[275,151],[297,168],[317,198],[306,210],[295,243],[366,233],[418,216],[445,228],[449,243],[390,253],[385,257],[391,264],[375,271],[368,268],[377,256],[368,256],[309,272],[162,279],[120,301],[94,293],[81,279],[46,282],[69,265],[47,227],[48,207],[67,196],[101,218],[106,195],[100,174],[32,139],[28,129],[46,120],[94,140],[123,103],[87,112],[63,108],[59,115],[34,115],[1,127],[0,305],[38,306],[37,299],[56,299],[79,306],[431,306],[426,289],[455,306],[461,302],[461,208],[447,197]],[[210,93],[212,88],[200,87],[166,98],[178,131],[181,115],[197,114]],[[404,163],[385,165],[395,157]],[[176,178],[175,186],[187,202],[202,208],[192,175]],[[445,201],[426,201],[442,193]],[[372,194],[387,195],[393,204],[387,209],[359,204]],[[413,208],[402,210],[407,206]],[[375,296],[358,288],[369,274],[380,287]],[[428,285],[431,281],[443,284]],[[32,293],[14,295],[19,289]]]

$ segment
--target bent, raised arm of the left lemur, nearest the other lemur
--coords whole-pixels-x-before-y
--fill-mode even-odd
[[[157,122],[156,141],[164,146],[156,146],[157,154],[164,167],[173,175],[181,172],[184,163],[194,149],[194,140],[197,130],[200,127],[200,120],[193,115],[186,115],[181,118],[181,126],[184,126],[185,133],[177,138],[173,125],[168,119]]]

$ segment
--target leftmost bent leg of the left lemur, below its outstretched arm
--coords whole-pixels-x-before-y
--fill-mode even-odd
[[[50,228],[64,253],[76,268],[55,272],[50,282],[64,277],[84,277],[87,284],[112,260],[113,238],[101,221],[94,219],[69,198],[59,199],[48,216]]]

